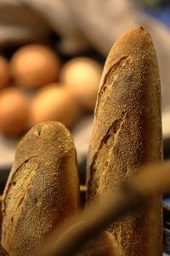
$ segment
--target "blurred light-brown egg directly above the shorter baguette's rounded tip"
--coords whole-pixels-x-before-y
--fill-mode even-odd
[[[31,125],[53,120],[71,128],[78,113],[79,106],[71,92],[61,84],[49,84],[31,102]]]

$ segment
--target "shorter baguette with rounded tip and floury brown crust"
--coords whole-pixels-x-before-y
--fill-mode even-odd
[[[9,255],[31,255],[79,209],[77,154],[57,122],[34,126],[18,145],[3,193],[2,244]]]

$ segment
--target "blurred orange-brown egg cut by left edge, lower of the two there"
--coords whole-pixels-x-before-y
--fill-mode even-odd
[[[27,96],[16,88],[0,91],[0,131],[8,136],[20,135],[26,129],[29,115]]]

